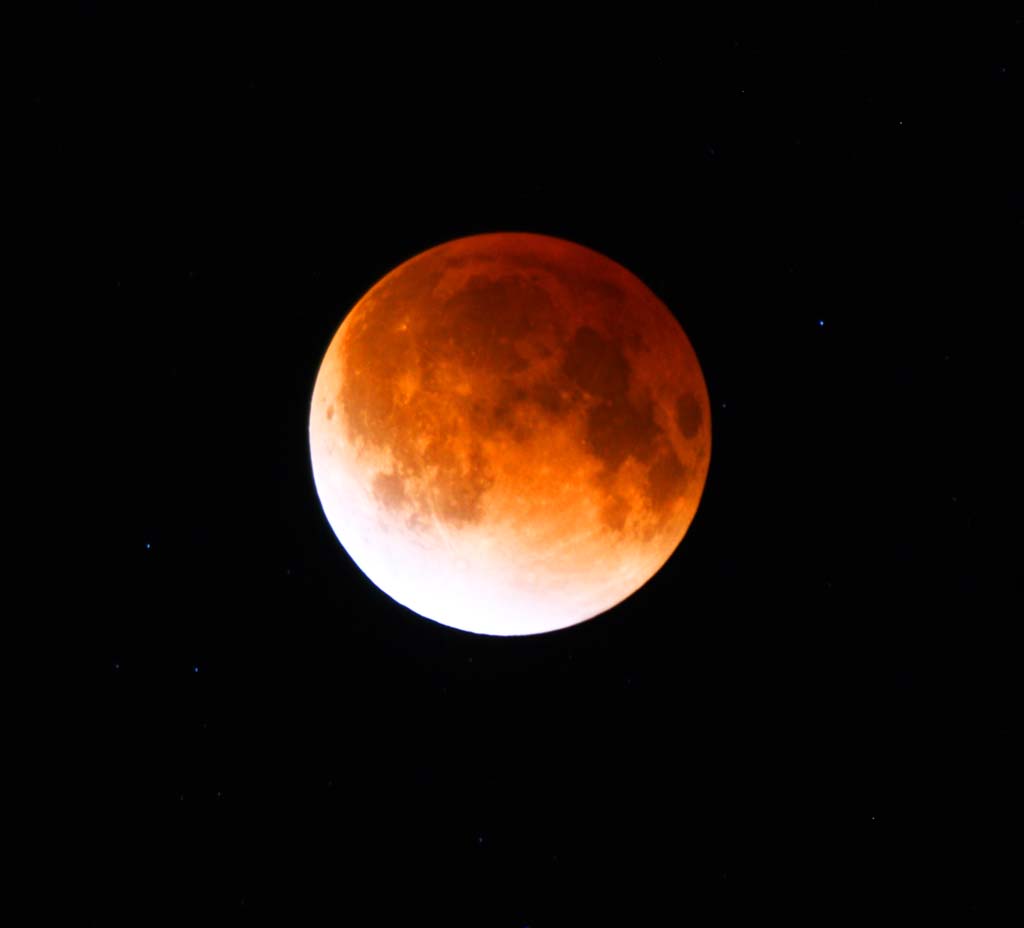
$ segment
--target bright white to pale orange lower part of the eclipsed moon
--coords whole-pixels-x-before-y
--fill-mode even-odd
[[[329,402],[314,390],[314,406],[317,398],[324,406]],[[621,551],[609,551],[615,543],[600,531],[595,509],[589,518],[581,512],[575,532],[531,545],[521,525],[501,517],[498,500],[488,507],[486,497],[483,511],[495,512],[493,517],[458,530],[436,522],[428,536],[413,536],[399,523],[389,524],[366,482],[353,476],[362,470],[359,453],[341,429],[312,430],[310,447],[316,492],[348,555],[396,602],[450,628],[515,636],[577,625],[632,595],[681,540],[656,563],[649,547],[624,542]],[[579,497],[574,502],[588,503]],[[601,566],[595,571],[594,564]]]

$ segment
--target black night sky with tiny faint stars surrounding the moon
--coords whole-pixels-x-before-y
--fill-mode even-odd
[[[51,898],[135,924],[1002,912],[1021,15],[286,9],[80,5],[22,73],[28,235],[67,256],[43,344],[74,375],[73,508],[41,528],[75,650]],[[494,230],[640,277],[713,414],[665,568],[519,639],[373,587],[307,437],[346,311]]]

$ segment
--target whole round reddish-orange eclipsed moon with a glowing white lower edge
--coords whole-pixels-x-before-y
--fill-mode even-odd
[[[547,236],[458,239],[348,313],[313,388],[313,478],[381,590],[488,635],[590,619],[643,586],[696,511],[708,389],[665,304]]]

